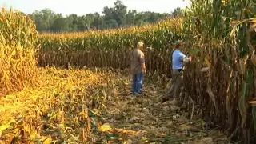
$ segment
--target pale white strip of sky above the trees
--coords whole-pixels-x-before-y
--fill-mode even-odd
[[[0,7],[12,6],[26,14],[34,10],[49,8],[55,13],[78,14],[98,12],[102,14],[104,6],[114,6],[116,0],[0,0]],[[183,0],[122,0],[128,10],[154,11],[159,13],[170,13],[176,7],[185,7]]]

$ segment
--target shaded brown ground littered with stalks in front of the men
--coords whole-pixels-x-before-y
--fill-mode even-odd
[[[127,143],[228,143],[225,134],[207,128],[208,123],[197,115],[190,120],[191,110],[182,108],[176,100],[158,102],[162,88],[150,83],[145,85],[144,96],[135,98],[120,94],[122,90],[129,93],[129,85],[118,87],[119,94],[111,98],[102,114],[105,126],[133,130],[120,137]]]

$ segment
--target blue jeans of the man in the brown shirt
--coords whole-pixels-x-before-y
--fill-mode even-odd
[[[132,93],[135,95],[137,94],[142,94],[142,84],[143,84],[143,78],[144,74],[142,72],[138,74],[133,75],[133,90]]]

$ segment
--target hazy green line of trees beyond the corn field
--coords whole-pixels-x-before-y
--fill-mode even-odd
[[[84,30],[105,30],[127,26],[142,26],[168,17],[182,15],[182,9],[176,8],[173,12],[160,14],[155,12],[137,12],[127,10],[122,1],[114,2],[114,7],[105,6],[102,14],[86,14],[78,16],[70,14],[64,17],[55,14],[50,9],[35,10],[30,17],[34,20],[39,32],[74,32]]]

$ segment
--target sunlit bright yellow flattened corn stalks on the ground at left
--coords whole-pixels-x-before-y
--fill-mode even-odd
[[[111,94],[114,74],[108,70],[54,67],[37,72],[37,87],[1,98],[0,143],[94,141],[92,131],[100,123],[90,118],[95,116],[94,109],[102,107],[106,96]],[[110,86],[106,85],[108,82]]]

